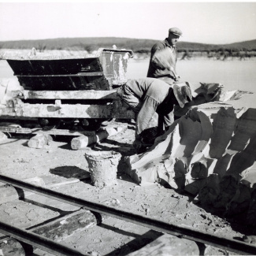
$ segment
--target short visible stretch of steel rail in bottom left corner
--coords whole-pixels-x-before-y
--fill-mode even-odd
[[[28,243],[34,247],[38,247],[46,252],[59,256],[89,256],[91,254],[83,254],[79,250],[74,250],[70,247],[66,247],[61,243],[54,242],[46,237],[39,236],[35,233],[29,232],[21,228],[14,227],[12,225],[0,222],[0,231],[8,236],[11,236],[21,242]]]

